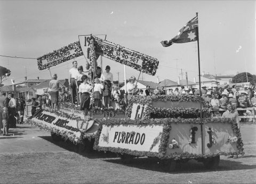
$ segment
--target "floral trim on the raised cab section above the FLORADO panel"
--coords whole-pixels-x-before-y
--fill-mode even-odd
[[[200,97],[199,96],[173,96],[173,95],[154,95],[154,96],[133,96],[129,104],[126,108],[125,116],[127,118],[131,118],[132,113],[132,106],[133,103],[139,103],[139,104],[146,104],[147,108],[143,112],[142,119],[150,119],[151,115],[156,115],[156,118],[171,118],[171,114],[175,114],[175,117],[186,118],[190,117],[189,115],[192,115],[193,118],[200,117],[200,111],[197,108],[181,108],[181,107],[174,107],[174,108],[157,108],[152,106],[152,102],[199,102]],[[202,102],[202,112],[206,117],[210,116],[210,108],[205,107],[205,101],[203,98],[201,98]],[[165,110],[165,113],[162,112],[162,110]],[[183,114],[179,111],[183,110]],[[155,113],[154,113],[155,112]],[[159,116],[159,113],[163,113],[163,116]],[[189,113],[186,115],[186,113]],[[193,113],[197,114],[194,115]],[[199,114],[199,115],[198,115]]]

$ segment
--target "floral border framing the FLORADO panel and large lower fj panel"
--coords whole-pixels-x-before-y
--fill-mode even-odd
[[[235,133],[235,136],[237,137],[236,145],[237,145],[237,152],[220,152],[220,153],[211,153],[211,154],[191,154],[188,152],[185,153],[172,153],[170,155],[166,154],[166,149],[169,147],[168,140],[169,140],[169,134],[171,130],[171,123],[193,123],[193,124],[200,124],[200,119],[181,119],[181,118],[165,118],[165,119],[149,119],[149,120],[125,120],[125,119],[112,119],[112,120],[97,120],[99,123],[99,129],[95,136],[95,143],[94,143],[94,149],[95,150],[102,150],[102,151],[110,151],[114,153],[120,153],[120,154],[129,154],[133,156],[148,156],[148,157],[158,157],[158,158],[173,158],[174,160],[180,160],[180,159],[195,159],[199,160],[201,158],[207,158],[207,157],[214,157],[218,155],[230,155],[230,154],[236,154],[236,155],[243,155],[243,141],[241,138],[241,133],[237,127],[237,123],[234,120],[226,119],[226,118],[205,118],[203,119],[203,123],[231,123],[231,127]],[[99,137],[101,134],[102,126],[105,124],[106,126],[115,126],[119,124],[134,124],[136,126],[143,126],[145,124],[153,125],[153,124],[163,124],[163,132],[161,136],[161,141],[157,152],[141,152],[137,150],[130,150],[126,148],[115,148],[115,147],[100,147],[99,145]],[[174,139],[175,140],[175,139]],[[178,143],[176,144],[175,141],[173,141],[172,146],[174,144],[174,147],[178,146]],[[173,148],[174,148],[173,147]]]

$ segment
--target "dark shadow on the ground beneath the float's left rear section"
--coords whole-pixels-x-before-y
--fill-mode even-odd
[[[96,150],[93,150],[92,148],[90,150],[86,150],[84,145],[74,145],[69,140],[54,141],[51,136],[38,136],[38,137],[40,137],[44,140],[47,140],[50,143],[57,145],[63,149],[66,149],[70,152],[78,153],[79,155],[82,155],[82,156],[90,158],[90,159],[117,157],[117,154],[115,154],[115,153],[98,152]]]

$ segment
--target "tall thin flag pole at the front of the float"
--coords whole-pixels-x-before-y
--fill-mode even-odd
[[[198,19],[198,13],[196,13]],[[198,20],[199,22],[199,20]],[[199,25],[198,25],[199,27]],[[197,35],[197,54],[198,54],[198,73],[199,73],[199,91],[200,91],[200,127],[201,127],[201,142],[202,142],[202,154],[204,154],[204,143],[203,143],[203,121],[202,121],[202,90],[201,90],[201,72],[200,72],[200,54],[199,54],[199,31],[196,27]]]

